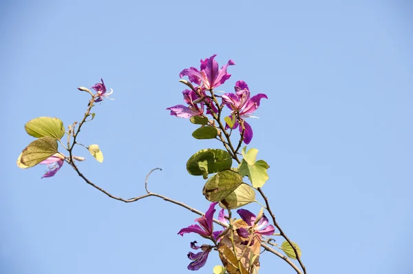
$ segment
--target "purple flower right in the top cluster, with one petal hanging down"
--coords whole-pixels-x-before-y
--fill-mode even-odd
[[[252,116],[252,114],[258,109],[258,107],[260,107],[260,101],[262,98],[268,99],[266,94],[262,93],[250,97],[248,85],[244,81],[237,81],[237,83],[235,83],[235,93],[226,93],[222,95],[222,103],[231,109],[231,116],[234,114],[235,117],[237,117],[237,120],[235,120],[235,123],[231,128],[236,129],[238,127],[240,132],[242,132],[243,128],[240,123],[243,123],[244,143],[247,145],[253,138],[253,129],[248,123],[246,123],[244,118],[257,118]],[[226,128],[229,128],[228,124],[226,125]]]

